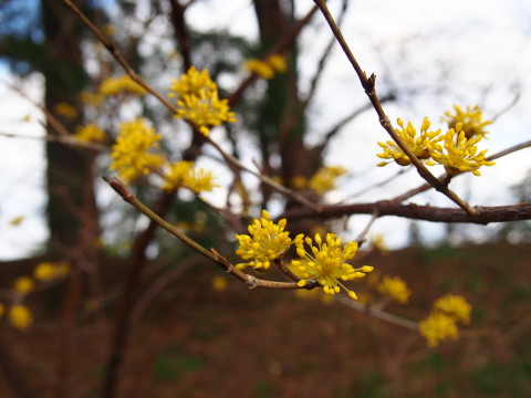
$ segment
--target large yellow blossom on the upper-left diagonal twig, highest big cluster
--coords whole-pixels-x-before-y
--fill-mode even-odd
[[[191,66],[180,80],[173,80],[169,97],[177,97],[178,111],[175,117],[190,123],[204,135],[210,128],[223,122],[236,122],[227,100],[219,100],[218,86],[210,78],[208,71],[197,71]]]

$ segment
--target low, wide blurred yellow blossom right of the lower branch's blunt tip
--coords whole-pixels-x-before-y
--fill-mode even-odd
[[[177,161],[169,166],[169,170],[164,175],[165,184],[163,189],[166,191],[174,191],[180,187],[199,193],[201,191],[211,191],[219,185],[214,182],[211,171],[205,169],[195,169],[191,161]]]

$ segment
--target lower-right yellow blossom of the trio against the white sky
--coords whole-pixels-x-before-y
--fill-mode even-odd
[[[482,135],[468,138],[462,130],[462,124],[457,123],[456,128],[450,128],[448,133],[439,136],[433,142],[427,142],[434,161],[426,164],[434,166],[436,163],[445,166],[449,176],[456,176],[460,172],[472,171],[475,176],[481,176],[479,168],[481,166],[493,166],[493,161],[485,160],[487,149],[478,153],[477,144],[483,138]],[[444,140],[444,145],[437,143]]]

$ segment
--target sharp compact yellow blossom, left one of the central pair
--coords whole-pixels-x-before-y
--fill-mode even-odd
[[[262,210],[262,218],[254,219],[249,226],[249,234],[237,234],[239,248],[236,254],[247,263],[239,263],[236,266],[242,270],[252,266],[254,270],[267,271],[271,261],[281,258],[292,243],[290,232],[284,231],[285,219],[274,223],[267,210]],[[299,235],[296,239],[302,239]]]

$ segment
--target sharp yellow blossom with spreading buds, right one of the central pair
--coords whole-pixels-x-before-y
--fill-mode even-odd
[[[345,287],[341,281],[352,281],[356,277],[364,277],[365,273],[373,271],[369,265],[355,269],[346,261],[354,258],[357,251],[356,242],[348,242],[343,248],[341,239],[335,233],[327,233],[323,239],[319,233],[314,237],[315,245],[312,238],[295,239],[296,254],[301,260],[292,260],[292,272],[301,277],[298,282],[299,286],[304,286],[309,281],[316,280],[323,286],[324,293],[335,294],[343,287],[351,298],[357,300],[356,293]],[[304,242],[309,245],[310,251],[304,249]]]

